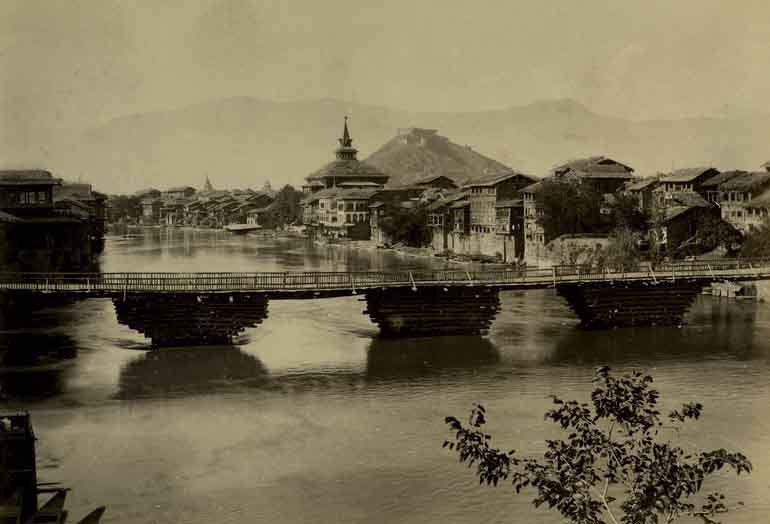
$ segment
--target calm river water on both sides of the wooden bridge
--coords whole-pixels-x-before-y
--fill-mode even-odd
[[[107,242],[104,271],[363,270],[441,263],[225,233]],[[33,416],[41,481],[73,516],[114,523],[557,523],[531,493],[481,488],[441,448],[474,402],[524,454],[557,436],[548,395],[588,399],[597,365],[655,377],[664,404],[697,400],[683,432],[741,450],[755,471],[708,488],[770,514],[770,305],[703,297],[683,328],[585,332],[553,291],[507,292],[488,337],[380,340],[356,297],[272,301],[228,347],[149,351],[109,300],[52,307],[0,331],[2,411]]]

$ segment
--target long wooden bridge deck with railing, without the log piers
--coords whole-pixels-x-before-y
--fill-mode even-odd
[[[154,293],[260,293],[272,298],[343,296],[377,288],[488,286],[533,289],[557,284],[661,280],[770,280],[770,260],[723,259],[590,271],[580,266],[482,271],[283,273],[4,273],[0,291],[116,296]]]

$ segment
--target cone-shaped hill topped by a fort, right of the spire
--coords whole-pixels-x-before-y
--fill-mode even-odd
[[[461,185],[510,169],[470,146],[455,144],[435,129],[421,128],[400,130],[366,162],[390,175],[389,186],[409,185],[429,175],[446,175]]]

